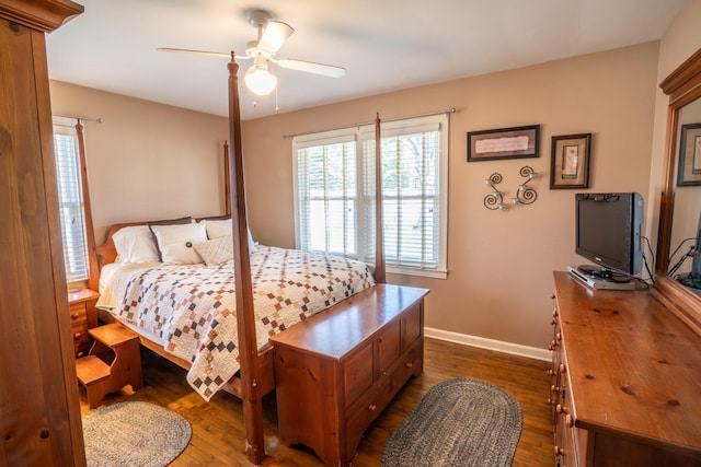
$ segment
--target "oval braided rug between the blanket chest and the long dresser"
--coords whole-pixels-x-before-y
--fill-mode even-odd
[[[522,424],[520,406],[499,387],[444,381],[392,433],[382,466],[510,466]]]

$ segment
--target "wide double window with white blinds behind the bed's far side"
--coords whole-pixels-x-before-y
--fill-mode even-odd
[[[448,115],[382,122],[387,270],[447,272]],[[297,247],[375,255],[375,126],[295,137]]]

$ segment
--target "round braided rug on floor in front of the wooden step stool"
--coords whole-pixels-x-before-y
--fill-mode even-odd
[[[83,417],[89,467],[164,467],[189,443],[187,420],[148,402],[119,402]]]

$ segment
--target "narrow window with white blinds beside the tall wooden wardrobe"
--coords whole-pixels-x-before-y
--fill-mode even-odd
[[[68,282],[84,281],[89,275],[77,124],[74,118],[54,117],[58,205]]]

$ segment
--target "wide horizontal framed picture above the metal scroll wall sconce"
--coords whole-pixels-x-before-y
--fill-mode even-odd
[[[468,162],[538,157],[540,125],[468,132]]]

